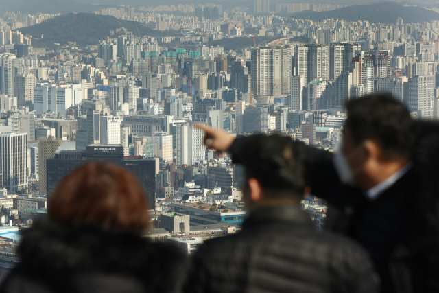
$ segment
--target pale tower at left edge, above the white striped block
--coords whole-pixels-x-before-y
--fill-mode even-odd
[[[14,54],[0,54],[0,94],[14,95],[15,76],[20,73],[21,59]]]

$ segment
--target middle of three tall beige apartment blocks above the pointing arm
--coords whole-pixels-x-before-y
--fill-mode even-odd
[[[295,47],[296,75],[303,76],[305,84],[317,78],[329,80],[328,45],[307,44]]]

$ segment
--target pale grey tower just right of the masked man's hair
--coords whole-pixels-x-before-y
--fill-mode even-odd
[[[433,119],[434,77],[433,75],[419,75],[409,78],[407,108],[410,112],[417,112],[418,118]]]

